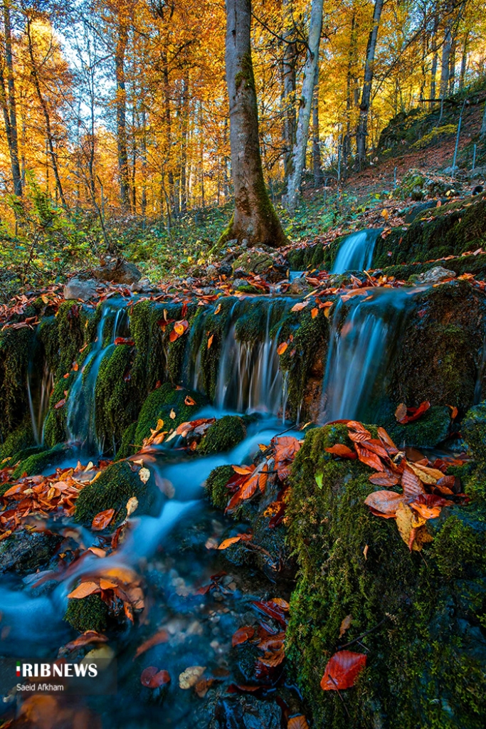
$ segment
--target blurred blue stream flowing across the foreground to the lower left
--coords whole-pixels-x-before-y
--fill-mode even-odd
[[[215,411],[201,414],[211,416]],[[54,660],[59,647],[74,637],[62,616],[67,595],[79,577],[106,574],[107,569],[130,569],[143,580],[147,609],[138,627],[125,629],[110,640],[110,650],[117,656],[117,693],[70,699],[77,712],[89,709],[91,720],[101,721],[106,729],[208,729],[214,717],[220,715],[225,723],[211,726],[243,727],[247,725],[240,723],[238,712],[242,710],[241,702],[246,701],[255,717],[255,723],[248,726],[277,729],[280,723],[275,723],[275,717],[280,716],[280,709],[275,703],[275,688],[260,690],[258,698],[251,693],[246,697],[238,692],[227,694],[226,688],[251,682],[248,671],[254,666],[253,649],[232,649],[232,634],[242,625],[259,620],[253,601],[271,596],[288,598],[288,587],[273,588],[261,574],[248,566],[229,564],[214,548],[224,537],[247,527],[211,508],[204,498],[203,482],[217,465],[250,463],[258,444],[268,443],[281,429],[275,418],[260,418],[243,443],[230,453],[215,456],[194,456],[179,450],[177,444],[173,448],[161,446],[149,465],[159,477],[171,482],[173,497],[165,499],[157,517],[137,518],[135,513],[130,519],[130,534],[116,553],[106,558],[87,553],[76,569],[61,576],[60,582],[56,577],[40,585],[45,575],[39,573],[23,580],[17,576],[3,580],[3,655],[17,660]],[[59,523],[46,526],[60,529]],[[64,523],[63,530],[66,539],[69,534],[85,547],[102,543],[95,534],[70,521]],[[207,593],[200,590],[214,579],[217,588]],[[167,631],[167,641],[136,657],[142,642],[162,630]],[[171,683],[162,693],[141,685],[141,672],[147,666],[171,674]],[[215,686],[206,696],[179,688],[179,674],[189,666],[205,666],[205,677],[216,677]],[[286,691],[299,701],[293,687],[288,686]],[[11,701],[9,697],[4,699],[4,711]]]

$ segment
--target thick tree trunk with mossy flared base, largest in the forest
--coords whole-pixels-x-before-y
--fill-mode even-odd
[[[258,135],[256,90],[251,63],[251,0],[226,0],[226,81],[230,97],[230,147],[235,214],[221,242],[282,246],[281,223],[268,197]]]

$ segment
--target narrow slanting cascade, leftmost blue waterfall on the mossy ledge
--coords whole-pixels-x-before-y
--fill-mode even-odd
[[[66,419],[69,442],[79,443],[90,450],[97,448],[98,451],[101,450],[95,429],[95,388],[98,372],[103,358],[113,351],[115,339],[128,333],[125,302],[109,299],[102,307],[91,351],[69,389]]]

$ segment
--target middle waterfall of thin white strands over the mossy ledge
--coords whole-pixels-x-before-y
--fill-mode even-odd
[[[227,326],[219,356],[214,404],[220,410],[238,412],[282,413],[285,417],[288,377],[280,369],[277,352],[282,318],[282,303],[286,300],[251,300],[254,311],[262,316],[259,336],[242,333],[241,322],[251,316],[248,301],[236,300],[227,316]],[[203,345],[204,346],[204,345]],[[197,351],[189,382],[204,391],[201,373],[201,348]]]

